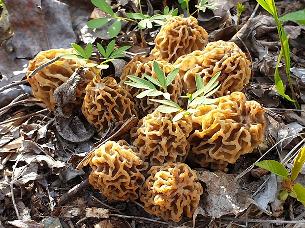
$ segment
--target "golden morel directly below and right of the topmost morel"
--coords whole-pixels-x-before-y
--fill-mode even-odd
[[[213,95],[214,98],[242,91],[251,76],[250,61],[233,42],[211,42],[204,51],[183,55],[173,65],[180,68],[183,89],[190,94],[197,90],[196,74],[207,84],[217,72],[221,72],[217,79],[221,86]]]

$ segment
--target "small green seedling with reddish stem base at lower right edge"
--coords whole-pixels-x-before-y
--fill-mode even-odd
[[[294,183],[304,163],[305,163],[305,148],[302,148],[297,158],[294,161],[291,170],[291,175],[288,174],[288,171],[285,169],[285,167],[278,161],[266,160],[266,161],[254,163],[254,165],[266,169],[276,174],[277,176],[283,178],[284,188],[279,194],[279,199],[281,201],[285,201],[288,196],[291,196],[293,198],[296,198],[305,206],[305,187],[301,184]]]

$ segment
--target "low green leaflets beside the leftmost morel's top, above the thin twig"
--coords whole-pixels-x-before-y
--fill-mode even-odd
[[[62,54],[61,58],[65,58],[65,59],[75,59],[75,60],[87,60],[87,67],[96,67],[98,69],[107,69],[109,67],[109,65],[107,64],[107,62],[113,61],[115,58],[120,58],[120,57],[124,57],[125,54],[123,54],[123,51],[126,51],[127,49],[131,48],[131,46],[124,46],[121,47],[117,50],[114,50],[116,41],[112,40],[110,41],[110,43],[107,46],[107,49],[105,50],[99,43],[97,43],[97,48],[98,51],[101,53],[101,55],[103,57],[105,57],[106,60],[102,61],[100,64],[96,64],[96,63],[90,63],[89,59],[93,53],[93,48],[92,48],[92,44],[89,43],[85,50],[77,45],[72,43],[71,46],[74,48],[74,50],[78,53],[77,54]]]

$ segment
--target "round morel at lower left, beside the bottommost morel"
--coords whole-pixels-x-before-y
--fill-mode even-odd
[[[138,199],[139,187],[145,181],[141,171],[148,168],[148,163],[139,158],[136,147],[125,140],[108,141],[95,149],[90,166],[91,185],[106,197],[118,201]]]

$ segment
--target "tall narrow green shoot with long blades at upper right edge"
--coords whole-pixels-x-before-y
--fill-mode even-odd
[[[280,53],[279,53],[279,56],[277,59],[277,64],[276,64],[275,73],[274,73],[274,81],[275,81],[275,86],[276,86],[277,92],[281,96],[286,98],[288,101],[292,101],[297,109],[300,109],[300,105],[296,99],[296,95],[295,95],[295,92],[293,89],[293,85],[291,82],[291,76],[290,76],[290,49],[289,49],[289,44],[288,44],[289,37],[287,37],[284,27],[283,27],[283,25],[281,25],[281,23],[278,19],[274,0],[257,0],[257,2],[274,17],[278,35],[279,35],[279,40],[281,43],[281,50],[280,50]],[[291,99],[288,95],[285,94],[283,81],[278,74],[278,66],[279,66],[282,56],[284,56],[286,75],[288,78],[288,82],[289,82],[289,86],[290,86],[290,90],[291,90],[293,99]]]

